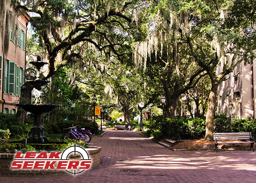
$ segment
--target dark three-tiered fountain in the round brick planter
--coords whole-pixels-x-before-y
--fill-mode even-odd
[[[37,56],[36,62],[30,62],[37,68],[37,75],[35,80],[26,81],[33,86],[38,92],[36,92],[35,99],[31,103],[27,104],[17,104],[17,106],[22,107],[27,112],[34,114],[34,126],[31,128],[31,137],[27,138],[28,144],[48,144],[49,140],[46,136],[43,136],[44,128],[42,126],[43,113],[52,111],[56,106],[55,104],[43,104],[40,98],[42,92],[40,92],[41,87],[50,83],[50,81],[40,79],[40,69],[48,64],[47,62],[42,62],[41,57]]]

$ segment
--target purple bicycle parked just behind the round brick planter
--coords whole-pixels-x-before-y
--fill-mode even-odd
[[[65,135],[65,138],[82,140],[86,143],[91,141],[91,132],[89,130],[77,129],[77,126],[69,127],[69,132]]]

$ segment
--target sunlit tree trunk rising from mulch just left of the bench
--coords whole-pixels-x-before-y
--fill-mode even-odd
[[[208,141],[213,141],[214,113],[215,113],[215,106],[217,104],[217,87],[218,85],[215,82],[213,82],[210,95],[209,95],[208,109],[206,113],[206,132],[205,132],[205,140],[208,140]]]

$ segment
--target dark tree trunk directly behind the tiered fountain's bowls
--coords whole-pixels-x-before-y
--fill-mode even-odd
[[[33,90],[33,86],[30,83],[25,82],[21,87],[21,97],[20,104],[30,103],[31,102],[31,92]],[[18,107],[16,117],[20,118],[20,123],[24,123],[26,119],[26,111],[24,111],[21,107]]]

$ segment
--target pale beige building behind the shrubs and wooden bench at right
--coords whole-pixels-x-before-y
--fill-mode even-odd
[[[256,60],[240,63],[218,87],[217,114],[232,119],[256,118]]]

